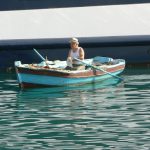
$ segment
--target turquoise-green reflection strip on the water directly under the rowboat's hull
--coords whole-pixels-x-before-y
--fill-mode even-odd
[[[109,92],[109,88],[119,85],[121,81],[117,78],[109,78],[93,84],[64,86],[64,87],[49,87],[49,88],[33,88],[24,89],[18,93],[19,100],[40,100],[51,98],[67,98],[84,93],[86,96],[91,92]]]

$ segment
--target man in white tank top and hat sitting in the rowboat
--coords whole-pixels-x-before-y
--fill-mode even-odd
[[[74,58],[84,60],[84,49],[82,47],[79,47],[79,41],[77,38],[72,38],[70,40],[70,51],[67,58],[67,67],[66,69],[69,70],[84,70],[85,66],[75,60]]]

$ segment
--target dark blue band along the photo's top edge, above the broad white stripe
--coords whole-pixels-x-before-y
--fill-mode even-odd
[[[1,0],[0,11],[150,3],[150,0]]]

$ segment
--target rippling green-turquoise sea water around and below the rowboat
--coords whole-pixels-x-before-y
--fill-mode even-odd
[[[0,75],[0,150],[150,150],[150,69],[79,87],[20,90]]]

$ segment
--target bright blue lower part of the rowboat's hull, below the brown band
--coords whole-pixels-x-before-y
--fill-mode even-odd
[[[122,70],[112,73],[112,74],[117,75],[117,74],[120,74],[121,72]],[[108,74],[105,74],[102,76],[94,76],[94,77],[88,77],[88,78],[75,78],[75,79],[60,78],[60,77],[47,77],[47,76],[39,77],[38,75],[29,75],[29,74],[20,74],[20,75],[23,80],[23,82],[20,83],[20,86],[22,88],[42,87],[42,86],[79,85],[79,84],[85,84],[85,83],[95,83],[95,82],[112,77]]]

